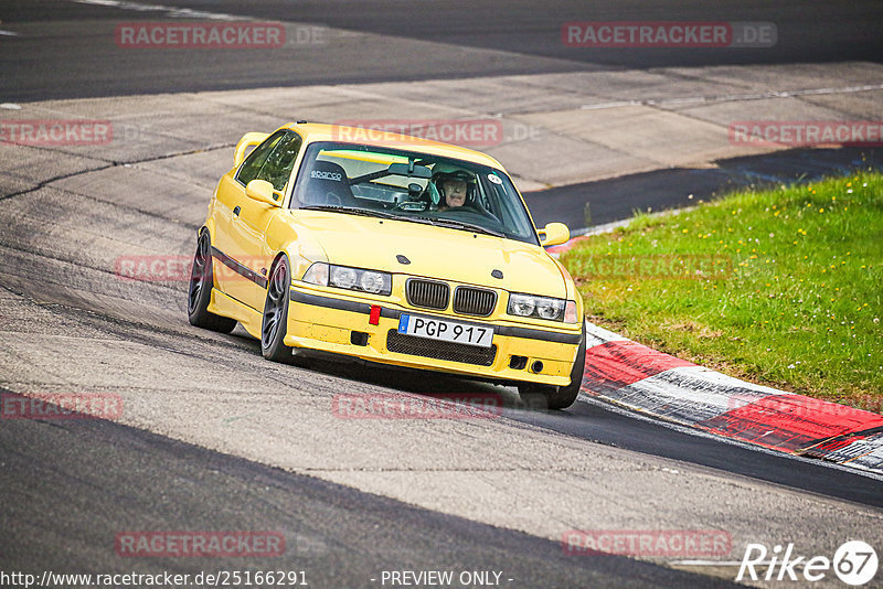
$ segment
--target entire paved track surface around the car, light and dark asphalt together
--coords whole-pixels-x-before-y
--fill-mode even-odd
[[[320,25],[329,41],[276,52],[114,43],[123,22],[219,15]],[[774,22],[779,42],[600,53],[561,43],[564,22],[611,20]],[[192,328],[172,266],[191,258],[238,137],[301,115],[499,115],[507,131],[536,137],[488,151],[529,191],[538,223],[574,228],[586,203],[606,223],[733,185],[879,168],[879,148],[734,147],[721,120],[880,120],[881,24],[875,2],[0,0],[0,120],[110,120],[116,132],[85,147],[0,141],[0,394],[123,401],[109,420],[0,420],[0,585],[23,587],[3,581],[12,571],[274,569],[304,571],[310,587],[402,587],[384,571],[405,570],[489,574],[451,587],[728,587],[752,543],[831,558],[861,539],[880,554],[880,476],[582,398],[545,411],[513,388],[446,376],[269,363],[242,328]],[[658,135],[623,131],[636,128]],[[121,277],[120,260],[138,258],[171,275]],[[341,395],[450,393],[497,395],[504,408],[491,419],[334,411]],[[706,558],[568,554],[562,538],[581,529],[720,531],[732,545]],[[268,531],[285,550],[120,551],[115,538],[145,531]],[[866,587],[883,587],[881,575]],[[842,586],[831,571],[812,583]]]

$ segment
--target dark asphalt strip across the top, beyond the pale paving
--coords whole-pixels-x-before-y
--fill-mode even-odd
[[[121,2],[127,4],[128,2]],[[138,2],[130,2],[138,4]],[[3,22],[28,22],[31,33],[3,57],[4,98],[35,100],[157,92],[193,92],[305,84],[438,79],[550,72],[741,63],[825,63],[879,60],[880,6],[852,2],[605,2],[532,0],[368,2],[321,0],[181,0],[140,2],[350,31],[348,43],[297,60],[285,53],[193,52],[187,60],[160,53],[131,55],[103,35],[117,22],[155,21],[174,11],[108,8],[102,0],[4,0]],[[561,43],[571,21],[774,22],[778,42],[767,49],[585,51]],[[75,24],[73,24],[75,23]],[[383,43],[372,42],[383,36]],[[418,44],[423,43],[423,45]],[[439,46],[440,45],[440,46]],[[63,51],[58,51],[63,49]],[[439,51],[440,49],[440,51]],[[512,52],[518,55],[513,58]],[[468,60],[464,57],[468,55]],[[255,67],[259,63],[259,67]],[[52,83],[46,81],[52,77]]]

